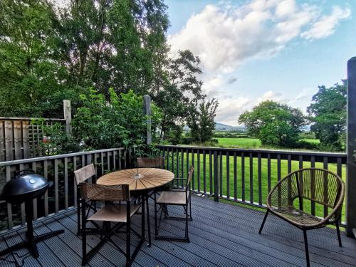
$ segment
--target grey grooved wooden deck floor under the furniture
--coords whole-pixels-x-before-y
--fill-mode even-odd
[[[151,205],[153,215],[153,204]],[[170,210],[178,214],[179,208]],[[303,233],[273,215],[268,216],[261,235],[258,228],[263,212],[244,206],[217,203],[203,197],[192,198],[193,221],[189,222],[189,244],[152,240],[152,247],[142,246],[132,266],[305,266]],[[134,227],[140,225],[140,216]],[[153,234],[153,217],[151,219]],[[167,221],[162,229],[181,234],[183,221]],[[81,240],[76,236],[76,214],[69,212],[35,224],[36,234],[65,229],[60,236],[38,244],[40,257],[24,259],[24,266],[80,266]],[[119,234],[120,235],[120,234]],[[16,244],[24,230],[4,236],[0,249]],[[116,236],[117,244],[124,245],[123,236]],[[135,240],[135,239],[134,239]],[[356,240],[342,233],[342,245],[337,245],[334,229],[308,231],[312,266],[356,266]],[[90,236],[94,246],[98,238]],[[21,250],[18,256],[27,251]],[[8,258],[11,260],[11,256]],[[90,260],[90,266],[123,266],[125,258],[114,246],[105,244]],[[14,263],[0,261],[0,266]]]

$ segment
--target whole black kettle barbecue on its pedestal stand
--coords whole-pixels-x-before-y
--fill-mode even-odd
[[[48,239],[52,236],[62,234],[64,230],[51,231],[39,236],[33,236],[33,199],[42,197],[48,187],[52,187],[53,183],[39,174],[36,174],[32,169],[24,169],[15,175],[15,179],[6,182],[2,190],[1,199],[11,204],[21,204],[25,202],[25,214],[27,223],[26,241],[11,246],[0,251],[0,256],[11,253],[20,248],[28,248],[33,257],[37,258],[38,250],[36,244],[39,241]]]

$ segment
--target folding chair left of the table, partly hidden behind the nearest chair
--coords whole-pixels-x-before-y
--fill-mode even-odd
[[[95,168],[94,164],[89,164],[83,168],[77,169],[74,171],[74,177],[75,177],[75,183],[77,184],[77,224],[78,224],[78,231],[77,234],[80,234],[80,189],[79,189],[79,184],[82,182],[87,182],[88,179],[91,177],[94,177],[96,175],[95,173]],[[85,218],[88,218],[90,211],[95,212],[96,211],[96,201],[86,201],[85,206],[88,207],[88,213],[85,215]],[[93,231],[94,233],[97,232],[97,229],[88,229],[87,228],[87,234],[88,230]]]

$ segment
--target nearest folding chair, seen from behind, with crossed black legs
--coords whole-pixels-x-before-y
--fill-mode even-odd
[[[82,251],[82,266],[88,262],[90,257],[92,257],[98,250],[107,242],[110,241],[115,248],[117,248],[121,253],[126,256],[126,266],[130,266],[132,261],[135,259],[137,252],[140,250],[143,242],[145,241],[145,204],[142,201],[141,205],[132,205],[130,198],[130,190],[128,184],[120,185],[110,185],[105,186],[101,184],[80,184],[80,192],[82,195],[82,242],[83,242],[83,251]],[[89,199],[92,201],[103,201],[105,206],[102,209],[96,211],[90,217],[85,218],[85,201]],[[126,204],[112,204],[113,201],[126,201]],[[110,204],[108,204],[110,203]],[[138,234],[135,230],[131,228],[131,217],[137,213],[137,210],[142,206],[141,214],[141,235]],[[100,242],[89,252],[86,248],[86,223],[91,221],[97,229],[100,231]],[[103,226],[98,225],[98,221],[103,221]],[[115,223],[114,226],[111,226],[111,223]],[[118,231],[122,226],[126,225],[125,231]],[[140,242],[135,248],[135,251],[131,254],[131,231],[139,237]],[[112,240],[112,236],[115,233],[126,234],[126,251],[117,246],[115,241]]]

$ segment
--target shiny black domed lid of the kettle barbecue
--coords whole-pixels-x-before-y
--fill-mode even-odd
[[[48,185],[45,177],[36,174],[32,169],[24,169],[16,174],[15,179],[6,182],[2,189],[2,197],[20,197],[47,188]]]

